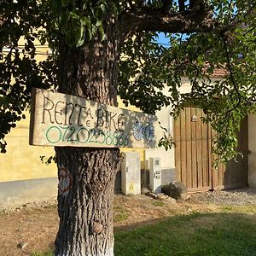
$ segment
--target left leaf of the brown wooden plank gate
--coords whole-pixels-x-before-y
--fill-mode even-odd
[[[212,189],[209,131],[202,116],[201,108],[185,108],[174,125],[176,177],[189,191]]]

